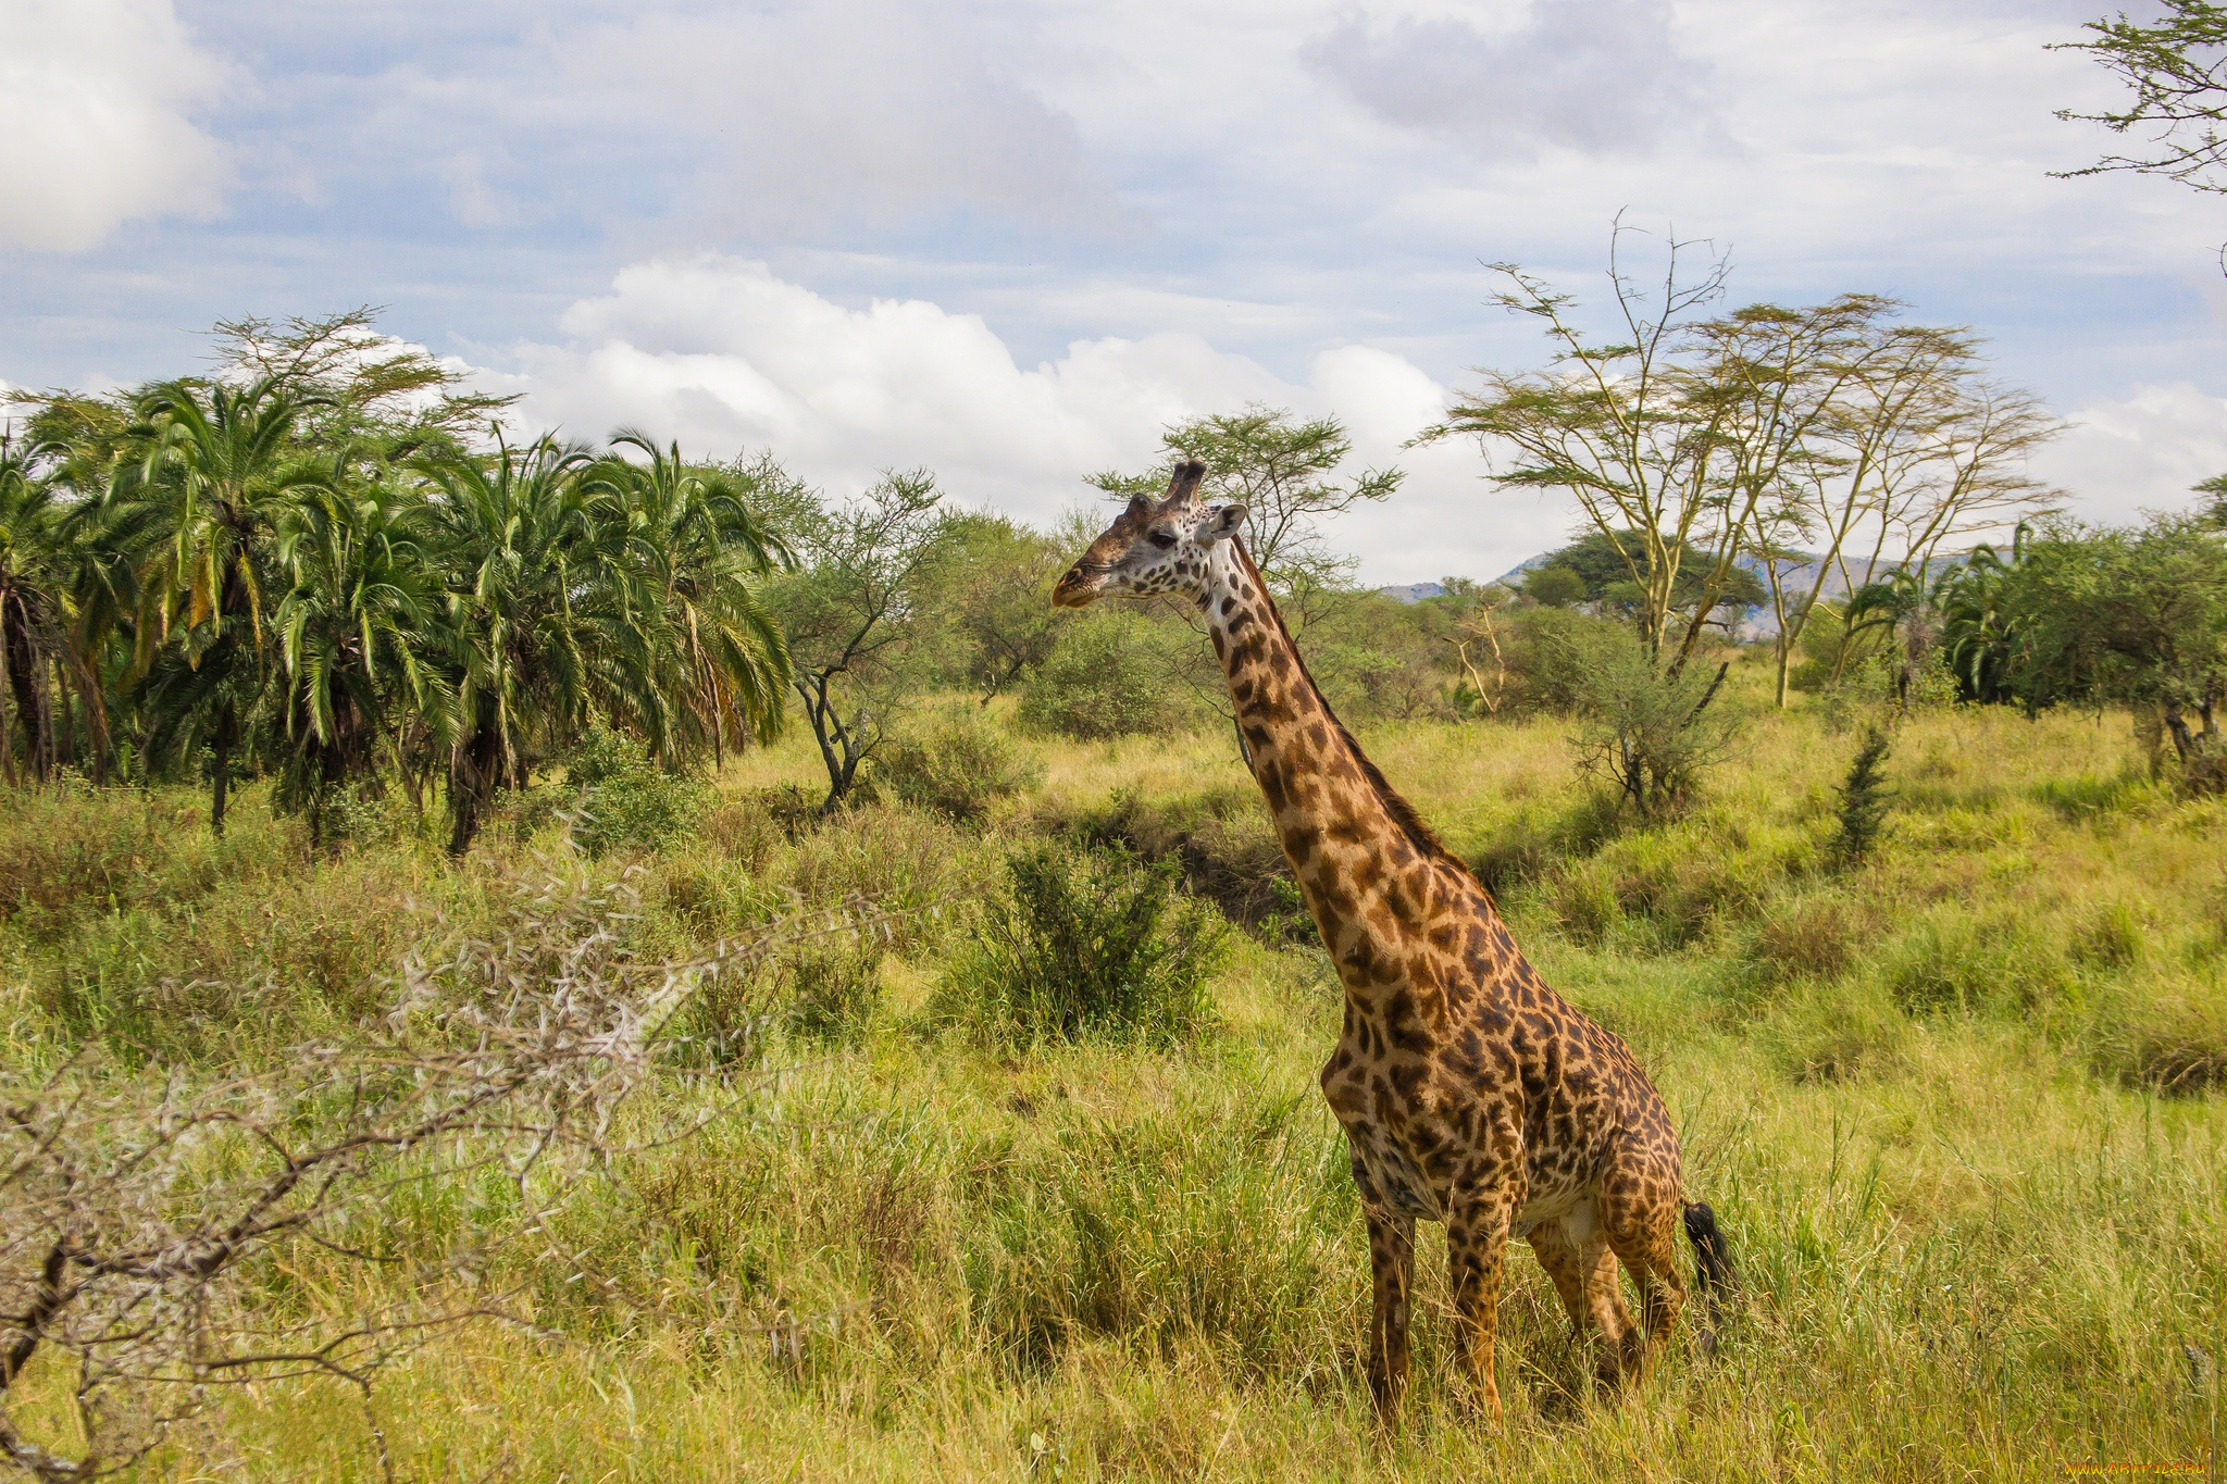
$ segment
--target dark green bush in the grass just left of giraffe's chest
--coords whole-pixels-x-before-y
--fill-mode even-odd
[[[1171,861],[1038,845],[1009,857],[1007,890],[960,952],[946,1006],[1007,1041],[1169,1046],[1214,1015],[1207,975],[1223,932]]]

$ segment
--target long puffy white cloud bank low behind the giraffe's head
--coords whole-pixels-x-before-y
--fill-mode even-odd
[[[699,256],[628,267],[604,298],[572,305],[563,345],[514,345],[490,385],[526,392],[526,425],[601,438],[641,425],[693,454],[771,447],[797,474],[851,494],[884,467],[926,465],[967,503],[1051,521],[1107,467],[1136,469],[1178,418],[1245,403],[1332,412],[1354,463],[1399,463],[1407,487],[1338,530],[1372,581],[1497,574],[1566,523],[1530,498],[1481,496],[1468,447],[1403,454],[1445,389],[1396,354],[1345,345],[1305,383],[1183,332],[1076,340],[1020,367],[975,316],[924,300],[846,309],[766,265]]]

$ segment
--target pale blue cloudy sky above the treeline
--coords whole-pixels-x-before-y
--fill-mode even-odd
[[[2129,0],[2149,16],[2154,0]],[[1376,583],[1572,527],[1401,445],[1521,263],[1599,307],[1610,225],[1733,303],[1969,325],[2067,418],[2076,514],[2227,472],[2227,200],[2051,178],[2107,145],[2098,0],[0,0],[0,383],[194,369],[216,318],[381,327],[690,456],[851,494],[931,467],[1051,521],[1167,423],[1334,414],[1401,494]]]

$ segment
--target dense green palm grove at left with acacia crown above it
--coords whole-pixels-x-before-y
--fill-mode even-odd
[[[370,314],[216,332],[203,376],[36,398],[0,454],[7,776],[272,776],[312,839],[350,790],[463,852],[595,716],[681,768],[782,721],[771,463],[485,441]],[[632,454],[626,458],[621,454]]]

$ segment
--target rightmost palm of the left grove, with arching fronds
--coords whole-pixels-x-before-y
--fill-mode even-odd
[[[795,558],[735,474],[690,467],[679,443],[659,449],[630,427],[610,443],[648,456],[612,458],[599,476],[624,505],[628,601],[650,632],[653,690],[670,701],[646,716],[653,752],[675,765],[684,743],[708,743],[717,759],[733,734],[771,741],[786,712],[788,643],[753,578]]]

